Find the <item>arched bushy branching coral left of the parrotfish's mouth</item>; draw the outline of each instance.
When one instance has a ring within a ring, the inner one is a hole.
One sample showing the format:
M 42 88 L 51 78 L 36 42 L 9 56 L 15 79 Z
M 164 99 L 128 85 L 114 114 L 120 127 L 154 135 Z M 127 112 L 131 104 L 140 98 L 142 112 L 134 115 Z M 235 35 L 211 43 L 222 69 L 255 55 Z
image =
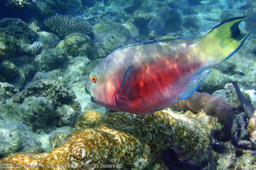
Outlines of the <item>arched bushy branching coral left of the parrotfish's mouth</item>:
M 28 96 L 46 97 L 54 102 L 55 106 L 69 104 L 76 98 L 67 84 L 56 80 L 36 80 L 28 85 L 22 92 L 13 96 L 16 102 L 22 102 Z

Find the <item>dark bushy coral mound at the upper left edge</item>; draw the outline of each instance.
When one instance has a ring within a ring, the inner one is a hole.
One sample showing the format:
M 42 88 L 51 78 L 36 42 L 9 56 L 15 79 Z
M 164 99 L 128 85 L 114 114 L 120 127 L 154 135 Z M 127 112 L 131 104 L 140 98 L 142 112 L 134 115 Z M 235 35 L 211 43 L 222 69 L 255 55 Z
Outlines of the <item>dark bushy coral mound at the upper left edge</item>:
M 37 33 L 18 18 L 4 18 L 0 20 L 0 32 L 13 36 L 16 39 L 23 38 L 30 43 L 38 38 Z

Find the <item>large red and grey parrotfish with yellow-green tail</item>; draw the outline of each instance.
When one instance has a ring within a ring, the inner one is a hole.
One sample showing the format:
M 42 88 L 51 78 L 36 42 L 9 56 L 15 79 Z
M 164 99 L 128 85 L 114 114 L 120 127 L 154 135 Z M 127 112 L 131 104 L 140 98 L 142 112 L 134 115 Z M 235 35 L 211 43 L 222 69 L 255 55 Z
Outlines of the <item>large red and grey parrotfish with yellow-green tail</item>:
M 215 26 L 199 39 L 128 44 L 104 58 L 88 75 L 91 100 L 114 111 L 148 114 L 191 96 L 211 70 L 242 46 L 238 17 Z

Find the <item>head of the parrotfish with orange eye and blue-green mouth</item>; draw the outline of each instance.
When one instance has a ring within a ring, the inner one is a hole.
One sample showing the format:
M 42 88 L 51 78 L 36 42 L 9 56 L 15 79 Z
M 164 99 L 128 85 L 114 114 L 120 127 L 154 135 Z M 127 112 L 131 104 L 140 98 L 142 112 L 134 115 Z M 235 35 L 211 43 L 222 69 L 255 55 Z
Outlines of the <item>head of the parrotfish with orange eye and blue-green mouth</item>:
M 99 63 L 88 75 L 85 91 L 91 101 L 114 111 L 119 111 L 116 104 L 117 82 L 106 62 Z

